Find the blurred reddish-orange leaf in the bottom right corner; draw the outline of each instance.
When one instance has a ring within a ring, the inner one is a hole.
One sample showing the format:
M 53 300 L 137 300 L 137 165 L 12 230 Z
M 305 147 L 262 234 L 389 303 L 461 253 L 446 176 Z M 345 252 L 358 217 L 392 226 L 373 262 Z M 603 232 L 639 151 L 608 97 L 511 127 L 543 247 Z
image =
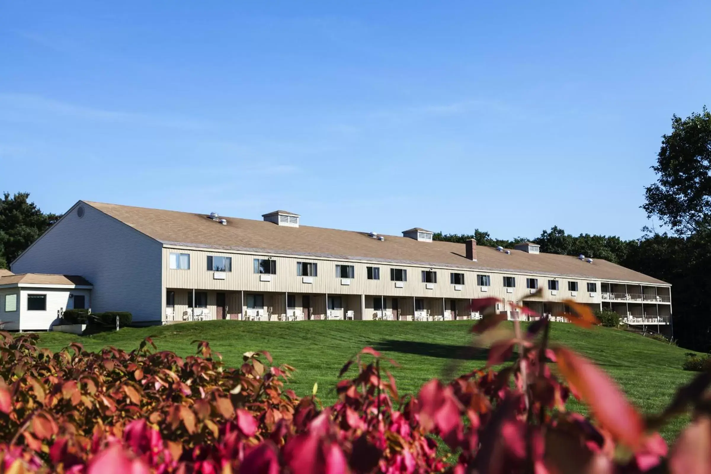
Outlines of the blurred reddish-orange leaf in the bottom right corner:
M 711 473 L 711 418 L 702 416 L 681 432 L 669 458 L 669 472 Z

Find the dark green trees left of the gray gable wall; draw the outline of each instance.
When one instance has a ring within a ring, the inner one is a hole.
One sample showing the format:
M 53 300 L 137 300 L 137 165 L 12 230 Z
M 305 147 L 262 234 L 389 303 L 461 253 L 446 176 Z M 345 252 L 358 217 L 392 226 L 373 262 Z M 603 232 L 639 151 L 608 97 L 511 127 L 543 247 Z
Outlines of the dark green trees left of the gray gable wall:
M 30 193 L 3 193 L 0 200 L 0 268 L 7 268 L 60 217 L 44 214 L 29 197 Z

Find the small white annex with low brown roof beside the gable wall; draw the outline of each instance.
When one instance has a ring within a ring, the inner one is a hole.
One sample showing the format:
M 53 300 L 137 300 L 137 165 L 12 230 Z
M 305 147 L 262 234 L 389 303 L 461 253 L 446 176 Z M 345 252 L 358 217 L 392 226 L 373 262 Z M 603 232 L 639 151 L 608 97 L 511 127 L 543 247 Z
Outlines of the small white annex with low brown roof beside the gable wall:
M 92 284 L 82 276 L 0 273 L 0 329 L 50 330 L 65 309 L 90 308 Z

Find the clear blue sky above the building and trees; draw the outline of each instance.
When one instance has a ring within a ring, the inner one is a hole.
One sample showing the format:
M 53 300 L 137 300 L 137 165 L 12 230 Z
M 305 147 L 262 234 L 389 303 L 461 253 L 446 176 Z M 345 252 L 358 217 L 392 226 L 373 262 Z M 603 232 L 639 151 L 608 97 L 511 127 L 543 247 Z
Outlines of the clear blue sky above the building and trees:
M 109 6 L 110 4 L 110 6 Z M 0 190 L 634 238 L 711 4 L 0 0 Z

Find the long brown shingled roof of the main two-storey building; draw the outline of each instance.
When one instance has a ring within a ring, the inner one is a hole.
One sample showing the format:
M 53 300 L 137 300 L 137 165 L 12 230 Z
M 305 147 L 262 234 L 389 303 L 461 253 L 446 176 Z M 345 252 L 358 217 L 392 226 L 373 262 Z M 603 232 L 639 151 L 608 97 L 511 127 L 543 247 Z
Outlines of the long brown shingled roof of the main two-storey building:
M 478 261 L 472 262 L 465 257 L 465 245 L 454 242 L 417 242 L 396 236 L 385 236 L 381 242 L 368 237 L 367 232 L 304 225 L 282 227 L 237 217 L 227 217 L 228 225 L 220 225 L 205 219 L 203 214 L 85 203 L 164 244 L 665 284 L 602 259 L 594 259 L 590 264 L 565 255 L 528 254 L 520 250 L 506 254 L 478 246 Z

